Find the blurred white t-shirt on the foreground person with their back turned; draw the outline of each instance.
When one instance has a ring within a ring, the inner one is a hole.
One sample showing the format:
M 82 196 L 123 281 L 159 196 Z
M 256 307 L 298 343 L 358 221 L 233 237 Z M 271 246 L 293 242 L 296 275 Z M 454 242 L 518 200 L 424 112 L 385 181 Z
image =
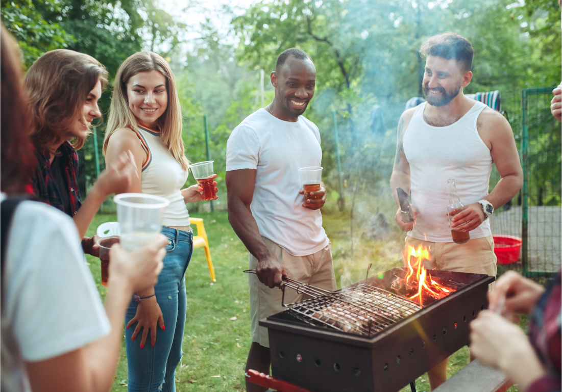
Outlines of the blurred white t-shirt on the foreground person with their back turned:
M 111 326 L 71 218 L 22 202 L 8 233 L 2 282 L 2 390 L 30 391 L 25 362 L 57 357 Z

